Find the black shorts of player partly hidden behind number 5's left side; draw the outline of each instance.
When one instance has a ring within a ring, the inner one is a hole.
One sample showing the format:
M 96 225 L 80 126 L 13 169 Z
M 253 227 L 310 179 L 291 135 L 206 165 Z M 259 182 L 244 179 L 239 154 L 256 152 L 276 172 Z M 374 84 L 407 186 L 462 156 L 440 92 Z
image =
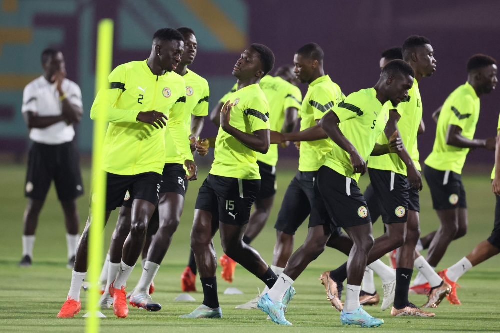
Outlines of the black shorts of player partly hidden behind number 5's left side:
M 288 235 L 295 235 L 300 225 L 311 213 L 314 203 L 314 183 L 316 182 L 318 171 L 297 171 L 295 177 L 291 180 L 284 194 L 281 208 L 279 209 L 278 219 L 274 228 Z M 309 226 L 311 218 L 309 217 Z M 342 230 L 337 230 L 332 237 L 338 237 Z

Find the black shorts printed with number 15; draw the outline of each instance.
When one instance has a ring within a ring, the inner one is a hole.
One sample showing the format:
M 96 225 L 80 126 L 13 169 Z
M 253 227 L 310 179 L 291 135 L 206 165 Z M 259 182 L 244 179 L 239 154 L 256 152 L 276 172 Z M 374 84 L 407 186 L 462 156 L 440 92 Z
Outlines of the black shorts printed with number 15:
M 212 220 L 245 225 L 260 188 L 260 179 L 245 180 L 208 174 L 199 188 L 194 209 L 209 211 Z

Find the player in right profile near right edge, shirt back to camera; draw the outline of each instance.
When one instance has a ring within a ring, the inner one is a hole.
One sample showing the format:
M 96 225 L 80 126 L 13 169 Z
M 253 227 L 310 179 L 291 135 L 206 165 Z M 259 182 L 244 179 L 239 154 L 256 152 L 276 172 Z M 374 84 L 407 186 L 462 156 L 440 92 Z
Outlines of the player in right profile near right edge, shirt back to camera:
M 470 148 L 493 150 L 496 144 L 495 137 L 474 139 L 480 96 L 493 91 L 497 82 L 496 60 L 476 54 L 467 62 L 467 73 L 467 82 L 456 88 L 442 106 L 434 147 L 425 160 L 425 179 L 441 222 L 427 253 L 432 267 L 437 266 L 449 243 L 465 235 L 467 230 L 467 203 L 461 173 Z M 414 282 L 414 288 L 424 288 L 421 282 Z M 448 299 L 459 303 L 454 285 L 452 287 Z

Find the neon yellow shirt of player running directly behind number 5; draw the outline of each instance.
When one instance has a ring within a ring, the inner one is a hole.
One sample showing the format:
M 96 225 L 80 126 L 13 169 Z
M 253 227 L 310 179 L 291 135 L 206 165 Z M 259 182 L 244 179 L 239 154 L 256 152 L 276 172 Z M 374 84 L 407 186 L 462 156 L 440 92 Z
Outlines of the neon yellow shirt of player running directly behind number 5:
M 389 103 L 389 109 L 394 109 Z M 408 91 L 408 97 L 403 99 L 396 107 L 397 113 L 401 116 L 397 122 L 399 135 L 403 141 L 406 150 L 410 157 L 414 156 L 413 149 L 415 148 L 416 135 L 418 127 L 422 120 L 422 99 L 420 97 L 420 89 L 418 82 L 414 80 L 413 86 Z M 392 135 L 392 133 L 390 133 Z M 385 133 L 380 135 L 377 142 L 379 144 L 387 144 L 388 139 Z M 381 156 L 370 157 L 369 167 L 378 170 L 387 170 L 407 175 L 406 164 L 399 158 L 397 154 L 385 154 Z

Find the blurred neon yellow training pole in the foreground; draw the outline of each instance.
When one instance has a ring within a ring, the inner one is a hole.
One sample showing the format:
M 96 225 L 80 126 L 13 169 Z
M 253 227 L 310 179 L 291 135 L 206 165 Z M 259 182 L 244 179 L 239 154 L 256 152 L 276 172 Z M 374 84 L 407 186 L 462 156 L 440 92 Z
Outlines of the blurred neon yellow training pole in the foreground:
M 109 88 L 107 76 L 111 72 L 113 58 L 113 28 L 111 19 L 102 19 L 97 28 L 97 48 L 95 61 L 95 94 L 100 89 Z M 104 236 L 105 198 L 106 198 L 106 173 L 102 170 L 102 144 L 106 135 L 106 118 L 104 112 L 99 110 L 93 127 L 92 147 L 92 196 L 91 196 L 91 224 L 88 239 L 88 281 L 90 292 L 87 300 L 87 310 L 90 316 L 86 321 L 86 331 L 97 333 L 99 331 L 99 291 L 97 282 L 102 268 L 102 250 Z

